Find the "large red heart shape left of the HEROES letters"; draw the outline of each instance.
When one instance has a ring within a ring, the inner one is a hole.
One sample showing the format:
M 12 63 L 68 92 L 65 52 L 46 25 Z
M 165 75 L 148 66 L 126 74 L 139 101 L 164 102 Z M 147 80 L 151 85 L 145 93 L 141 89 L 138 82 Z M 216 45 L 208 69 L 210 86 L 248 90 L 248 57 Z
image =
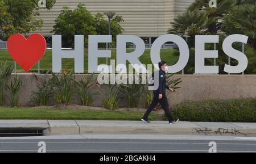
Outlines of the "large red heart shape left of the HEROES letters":
M 9 37 L 7 49 L 11 58 L 28 72 L 44 56 L 46 39 L 39 33 L 34 33 L 27 39 L 16 33 Z

